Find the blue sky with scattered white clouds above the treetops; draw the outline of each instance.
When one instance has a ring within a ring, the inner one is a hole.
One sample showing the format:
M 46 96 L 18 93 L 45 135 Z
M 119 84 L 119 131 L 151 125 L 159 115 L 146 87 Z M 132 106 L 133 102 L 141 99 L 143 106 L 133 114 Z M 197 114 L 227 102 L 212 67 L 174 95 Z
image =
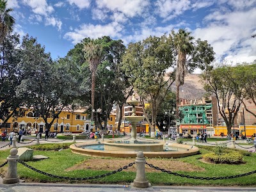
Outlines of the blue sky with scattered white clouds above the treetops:
M 184 28 L 207 40 L 216 63 L 256 60 L 256 0 L 8 0 L 15 32 L 37 38 L 53 59 L 83 38 L 125 45 Z

